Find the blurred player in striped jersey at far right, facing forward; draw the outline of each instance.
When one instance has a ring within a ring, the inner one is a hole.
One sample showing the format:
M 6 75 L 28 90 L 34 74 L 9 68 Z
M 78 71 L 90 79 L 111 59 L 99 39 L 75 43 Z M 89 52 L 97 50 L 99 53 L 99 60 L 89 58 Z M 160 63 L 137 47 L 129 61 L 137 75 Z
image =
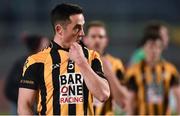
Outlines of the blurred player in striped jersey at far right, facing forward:
M 146 33 L 143 40 L 145 58 L 126 72 L 125 82 L 131 92 L 131 114 L 170 114 L 169 95 L 174 92 L 180 113 L 179 73 L 174 65 L 161 58 L 165 47 L 156 32 Z

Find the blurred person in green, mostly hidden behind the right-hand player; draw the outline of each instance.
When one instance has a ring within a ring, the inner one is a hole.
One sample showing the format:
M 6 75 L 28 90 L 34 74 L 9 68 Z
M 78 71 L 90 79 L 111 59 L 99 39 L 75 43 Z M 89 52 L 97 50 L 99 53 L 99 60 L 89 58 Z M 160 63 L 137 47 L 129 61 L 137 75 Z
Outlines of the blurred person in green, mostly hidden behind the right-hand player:
M 166 49 L 168 47 L 169 33 L 168 33 L 168 28 L 165 25 L 158 22 L 153 22 L 147 25 L 147 27 L 144 30 L 144 35 L 148 35 L 151 33 L 159 34 L 163 42 L 163 48 Z M 139 63 L 145 59 L 144 49 L 146 48 L 144 48 L 143 45 L 144 45 L 144 39 L 141 40 L 140 44 L 138 45 L 139 48 L 133 53 L 130 59 L 130 65 Z

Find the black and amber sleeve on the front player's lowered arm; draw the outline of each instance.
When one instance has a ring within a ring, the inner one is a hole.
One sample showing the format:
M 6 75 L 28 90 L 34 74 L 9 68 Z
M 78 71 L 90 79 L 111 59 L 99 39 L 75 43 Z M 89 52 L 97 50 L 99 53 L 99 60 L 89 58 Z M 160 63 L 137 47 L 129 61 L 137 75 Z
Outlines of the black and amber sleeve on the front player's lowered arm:
M 28 57 L 23 67 L 23 74 L 20 79 L 19 88 L 37 90 L 41 76 L 42 63 L 37 63 L 33 58 Z

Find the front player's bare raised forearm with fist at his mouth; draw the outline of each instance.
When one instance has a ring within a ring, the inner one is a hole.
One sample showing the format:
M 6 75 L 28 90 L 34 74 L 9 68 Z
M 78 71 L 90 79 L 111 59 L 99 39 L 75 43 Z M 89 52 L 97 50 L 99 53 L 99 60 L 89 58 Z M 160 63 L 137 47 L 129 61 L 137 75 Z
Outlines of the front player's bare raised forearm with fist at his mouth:
M 69 55 L 72 60 L 76 62 L 80 71 L 84 77 L 84 81 L 87 85 L 89 91 L 99 100 L 106 101 L 110 96 L 109 84 L 106 79 L 102 78 L 102 72 L 93 71 L 91 66 L 88 64 L 87 59 L 84 57 L 82 48 L 77 43 L 74 43 L 70 50 Z M 99 60 L 96 60 L 97 67 L 101 68 L 99 65 Z M 93 62 L 92 62 L 93 63 Z M 98 74 L 99 73 L 99 74 Z

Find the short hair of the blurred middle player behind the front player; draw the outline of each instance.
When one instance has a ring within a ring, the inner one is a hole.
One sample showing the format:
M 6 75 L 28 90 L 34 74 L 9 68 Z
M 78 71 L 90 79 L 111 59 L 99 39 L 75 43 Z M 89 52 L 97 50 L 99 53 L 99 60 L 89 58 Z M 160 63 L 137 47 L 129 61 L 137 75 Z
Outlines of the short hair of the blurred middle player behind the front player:
M 89 31 L 89 29 L 90 29 L 91 27 L 102 27 L 102 28 L 104 28 L 104 29 L 106 30 L 106 25 L 105 25 L 105 23 L 102 22 L 102 21 L 98 21 L 98 20 L 96 20 L 96 21 L 91 21 L 91 22 L 88 23 L 88 25 L 87 25 L 87 27 L 86 27 L 86 32 L 87 32 L 87 33 L 88 33 L 88 31 Z

